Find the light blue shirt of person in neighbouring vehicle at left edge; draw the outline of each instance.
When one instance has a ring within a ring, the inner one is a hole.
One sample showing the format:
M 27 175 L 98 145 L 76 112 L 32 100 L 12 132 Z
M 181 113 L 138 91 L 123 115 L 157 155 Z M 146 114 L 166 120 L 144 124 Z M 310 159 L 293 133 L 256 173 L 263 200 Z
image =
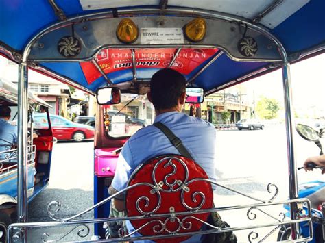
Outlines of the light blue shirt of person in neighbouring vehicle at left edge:
M 17 143 L 17 126 L 11 125 L 7 120 L 0 118 L 0 152 L 10 149 L 12 144 Z M 0 159 L 4 155 L 0 154 Z

